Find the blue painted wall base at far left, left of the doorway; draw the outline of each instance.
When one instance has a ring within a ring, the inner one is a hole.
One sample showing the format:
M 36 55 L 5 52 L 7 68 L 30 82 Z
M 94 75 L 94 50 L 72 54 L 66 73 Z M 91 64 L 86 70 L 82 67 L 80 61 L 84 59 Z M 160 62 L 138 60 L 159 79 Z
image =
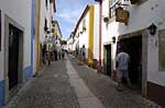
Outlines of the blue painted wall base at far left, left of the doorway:
M 0 108 L 4 104 L 4 81 L 0 81 Z

